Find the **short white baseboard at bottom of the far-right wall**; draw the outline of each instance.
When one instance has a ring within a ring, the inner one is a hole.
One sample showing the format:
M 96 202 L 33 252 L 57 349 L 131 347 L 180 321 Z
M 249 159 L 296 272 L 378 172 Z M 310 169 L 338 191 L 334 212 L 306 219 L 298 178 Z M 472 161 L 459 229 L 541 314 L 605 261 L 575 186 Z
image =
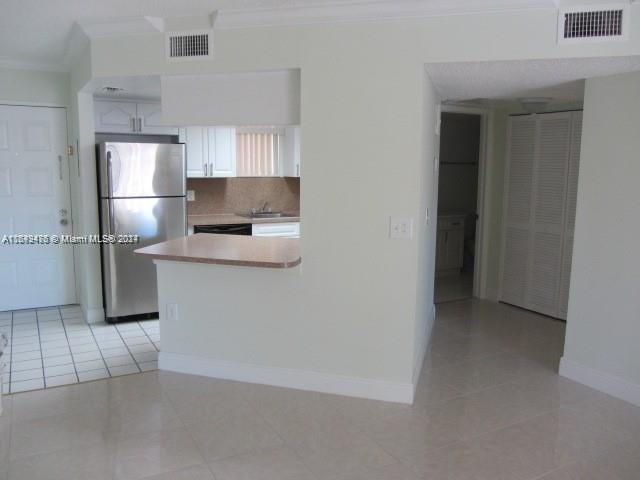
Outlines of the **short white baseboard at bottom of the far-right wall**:
M 594 370 L 565 357 L 560 359 L 560 375 L 640 406 L 640 385 L 623 378 Z

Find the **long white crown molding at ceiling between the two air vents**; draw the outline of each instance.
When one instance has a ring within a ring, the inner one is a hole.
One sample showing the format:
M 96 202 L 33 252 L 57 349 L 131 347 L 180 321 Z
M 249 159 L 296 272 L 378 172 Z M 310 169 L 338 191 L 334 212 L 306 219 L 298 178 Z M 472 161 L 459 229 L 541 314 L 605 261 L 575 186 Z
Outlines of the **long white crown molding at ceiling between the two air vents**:
M 557 0 L 352 0 L 286 7 L 220 10 L 216 28 L 380 21 L 557 8 Z

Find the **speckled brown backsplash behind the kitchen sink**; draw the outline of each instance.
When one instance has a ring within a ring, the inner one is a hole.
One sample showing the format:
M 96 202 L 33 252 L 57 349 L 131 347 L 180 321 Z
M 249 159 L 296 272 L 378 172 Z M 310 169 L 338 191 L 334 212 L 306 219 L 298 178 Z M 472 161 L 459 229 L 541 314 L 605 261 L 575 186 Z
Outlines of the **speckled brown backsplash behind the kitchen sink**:
M 299 178 L 188 178 L 187 189 L 196 194 L 189 215 L 245 213 L 264 202 L 274 211 L 300 211 Z

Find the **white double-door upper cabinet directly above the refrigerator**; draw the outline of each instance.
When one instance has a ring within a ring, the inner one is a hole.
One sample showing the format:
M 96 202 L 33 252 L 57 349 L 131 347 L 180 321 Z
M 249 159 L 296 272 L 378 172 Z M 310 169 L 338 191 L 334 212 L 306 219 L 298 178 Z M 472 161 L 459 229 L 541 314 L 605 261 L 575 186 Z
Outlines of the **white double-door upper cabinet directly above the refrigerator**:
M 93 108 L 96 132 L 178 134 L 177 128 L 162 124 L 162 109 L 159 103 L 95 100 Z

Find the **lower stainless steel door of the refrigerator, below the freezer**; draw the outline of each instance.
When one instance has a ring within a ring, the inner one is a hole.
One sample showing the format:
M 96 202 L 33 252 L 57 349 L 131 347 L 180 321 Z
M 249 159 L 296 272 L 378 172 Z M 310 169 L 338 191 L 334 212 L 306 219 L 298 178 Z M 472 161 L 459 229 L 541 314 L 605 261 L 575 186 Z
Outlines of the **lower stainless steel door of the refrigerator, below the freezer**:
M 186 233 L 185 198 L 116 198 L 101 200 L 101 230 L 110 235 L 139 235 L 137 244 L 103 244 L 105 315 L 117 317 L 158 311 L 153 261 L 133 253 Z

